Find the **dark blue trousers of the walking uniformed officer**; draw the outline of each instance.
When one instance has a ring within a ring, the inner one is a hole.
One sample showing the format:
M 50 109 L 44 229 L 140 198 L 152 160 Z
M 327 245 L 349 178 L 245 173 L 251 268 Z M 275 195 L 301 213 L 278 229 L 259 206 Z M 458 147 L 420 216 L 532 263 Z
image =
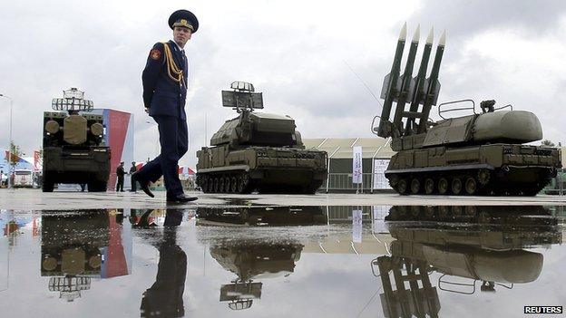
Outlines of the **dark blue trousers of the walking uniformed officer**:
M 183 193 L 178 163 L 188 150 L 187 121 L 173 116 L 153 116 L 153 120 L 160 131 L 161 154 L 146 163 L 138 176 L 151 182 L 163 176 L 167 196 L 175 197 Z

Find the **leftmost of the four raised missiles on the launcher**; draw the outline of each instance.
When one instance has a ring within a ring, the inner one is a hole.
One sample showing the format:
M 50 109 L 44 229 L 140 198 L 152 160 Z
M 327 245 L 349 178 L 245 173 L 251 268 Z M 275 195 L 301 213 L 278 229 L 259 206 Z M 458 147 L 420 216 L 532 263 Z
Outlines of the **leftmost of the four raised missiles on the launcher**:
M 392 124 L 389 121 L 391 115 L 391 106 L 395 99 L 397 82 L 399 79 L 399 70 L 401 69 L 401 58 L 403 57 L 403 49 L 405 47 L 406 38 L 406 23 L 401 28 L 399 40 L 397 40 L 397 48 L 395 49 L 395 57 L 393 59 L 393 66 L 384 79 L 384 84 L 381 89 L 381 98 L 385 100 L 383 110 L 381 111 L 381 118 L 379 119 L 379 127 L 377 128 L 377 135 L 379 137 L 387 138 L 391 136 Z

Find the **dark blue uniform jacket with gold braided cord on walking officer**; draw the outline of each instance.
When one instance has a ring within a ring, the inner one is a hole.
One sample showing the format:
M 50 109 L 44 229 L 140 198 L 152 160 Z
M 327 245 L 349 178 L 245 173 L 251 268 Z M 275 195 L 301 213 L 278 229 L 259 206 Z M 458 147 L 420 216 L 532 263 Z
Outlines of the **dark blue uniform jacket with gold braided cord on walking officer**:
M 168 61 L 166 44 L 174 64 Z M 179 77 L 174 72 L 171 73 L 171 68 L 182 71 L 181 81 L 173 79 Z M 188 78 L 189 63 L 179 46 L 171 40 L 167 43 L 155 43 L 142 72 L 143 104 L 149 109 L 150 116 L 173 116 L 186 120 Z

